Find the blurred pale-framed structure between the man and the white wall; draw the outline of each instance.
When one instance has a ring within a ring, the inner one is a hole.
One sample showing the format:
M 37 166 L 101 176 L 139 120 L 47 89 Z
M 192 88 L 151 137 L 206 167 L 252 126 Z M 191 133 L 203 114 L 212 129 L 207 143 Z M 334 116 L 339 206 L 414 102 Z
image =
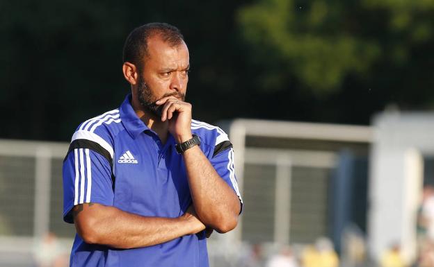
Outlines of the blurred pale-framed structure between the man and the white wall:
M 234 239 L 313 243 L 330 236 L 339 247 L 347 221 L 365 230 L 371 128 L 247 119 L 224 128 L 246 203 Z

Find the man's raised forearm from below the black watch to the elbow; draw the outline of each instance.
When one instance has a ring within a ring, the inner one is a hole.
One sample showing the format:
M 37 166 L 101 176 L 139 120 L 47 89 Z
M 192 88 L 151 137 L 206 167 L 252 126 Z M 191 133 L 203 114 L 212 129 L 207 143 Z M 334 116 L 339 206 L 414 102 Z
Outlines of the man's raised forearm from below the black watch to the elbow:
M 218 232 L 232 230 L 241 205 L 234 190 L 222 179 L 199 146 L 183 154 L 188 184 L 200 221 Z

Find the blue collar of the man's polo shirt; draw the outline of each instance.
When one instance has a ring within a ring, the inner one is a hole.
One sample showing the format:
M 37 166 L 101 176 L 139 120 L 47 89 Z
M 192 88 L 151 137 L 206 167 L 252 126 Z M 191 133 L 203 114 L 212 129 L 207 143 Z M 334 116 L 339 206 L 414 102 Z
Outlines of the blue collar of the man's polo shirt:
M 131 94 L 128 94 L 125 97 L 124 102 L 122 102 L 122 105 L 120 105 L 119 113 L 120 119 L 122 120 L 122 123 L 124 123 L 127 132 L 134 139 L 136 139 L 140 132 L 150 130 L 150 128 L 148 128 L 146 124 L 140 120 L 136 112 L 134 112 L 133 106 L 131 105 Z

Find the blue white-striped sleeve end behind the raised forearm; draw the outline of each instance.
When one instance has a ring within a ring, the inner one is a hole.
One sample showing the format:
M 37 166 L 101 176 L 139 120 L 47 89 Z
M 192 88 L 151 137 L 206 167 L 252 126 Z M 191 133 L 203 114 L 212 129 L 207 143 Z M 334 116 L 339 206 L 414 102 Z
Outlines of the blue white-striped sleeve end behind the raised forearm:
M 226 148 L 223 148 L 222 146 L 216 146 L 215 151 L 218 151 L 218 153 L 214 153 L 213 157 L 210 160 L 211 164 L 214 166 L 214 169 L 216 169 L 218 175 L 220 175 L 220 177 L 223 178 L 223 180 L 225 180 L 225 182 L 229 184 L 232 189 L 234 189 L 236 196 L 238 196 L 240 200 L 242 210 L 243 199 L 241 198 L 238 183 L 236 182 L 235 177 L 234 148 L 232 148 L 232 145 L 226 146 Z

